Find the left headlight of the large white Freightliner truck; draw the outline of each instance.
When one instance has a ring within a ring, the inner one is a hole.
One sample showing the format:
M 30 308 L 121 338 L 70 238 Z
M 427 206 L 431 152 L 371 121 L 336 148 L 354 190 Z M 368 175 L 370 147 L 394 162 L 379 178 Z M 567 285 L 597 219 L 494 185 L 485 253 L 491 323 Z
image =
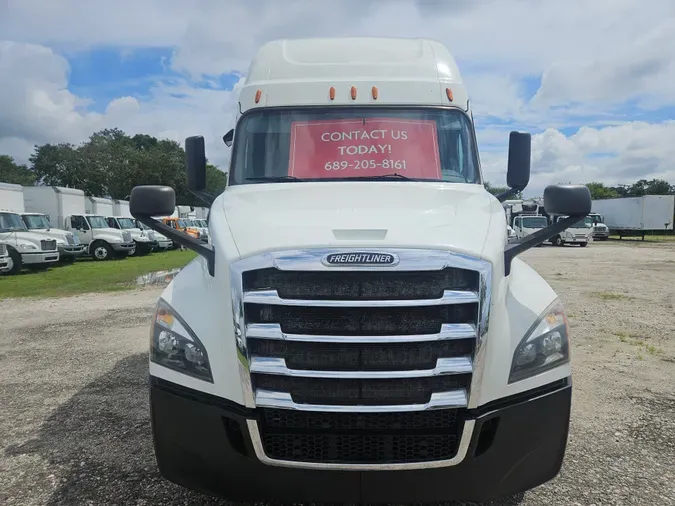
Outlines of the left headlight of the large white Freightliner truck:
M 204 345 L 187 323 L 164 301 L 157 303 L 152 325 L 150 360 L 174 371 L 213 383 Z

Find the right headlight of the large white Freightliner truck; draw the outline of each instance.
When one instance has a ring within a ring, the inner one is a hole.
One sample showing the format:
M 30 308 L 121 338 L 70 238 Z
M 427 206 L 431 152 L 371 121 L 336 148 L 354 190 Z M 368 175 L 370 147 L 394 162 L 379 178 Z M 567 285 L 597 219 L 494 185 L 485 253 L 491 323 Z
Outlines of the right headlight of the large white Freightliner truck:
M 530 327 L 513 354 L 509 383 L 558 367 L 570 359 L 569 325 L 556 300 Z

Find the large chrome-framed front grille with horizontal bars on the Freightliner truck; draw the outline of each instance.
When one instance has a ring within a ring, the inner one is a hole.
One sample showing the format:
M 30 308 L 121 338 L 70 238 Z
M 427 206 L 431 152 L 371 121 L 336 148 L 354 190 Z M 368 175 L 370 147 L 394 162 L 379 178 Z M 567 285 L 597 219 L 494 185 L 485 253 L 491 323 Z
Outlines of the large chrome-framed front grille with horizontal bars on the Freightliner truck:
M 376 469 L 461 460 L 460 442 L 468 444 L 473 427 L 463 412 L 487 329 L 490 266 L 448 252 L 395 251 L 395 268 L 324 265 L 322 256 L 340 252 L 333 250 L 233 264 L 247 405 L 277 414 L 276 423 L 267 415 L 249 422 L 261 460 Z M 453 423 L 439 431 L 429 416 L 410 433 L 395 425 L 357 430 L 371 414 L 428 413 Z M 310 426 L 318 418 L 325 423 Z M 337 435 L 335 423 L 353 432 Z M 394 451 L 399 444 L 407 449 Z

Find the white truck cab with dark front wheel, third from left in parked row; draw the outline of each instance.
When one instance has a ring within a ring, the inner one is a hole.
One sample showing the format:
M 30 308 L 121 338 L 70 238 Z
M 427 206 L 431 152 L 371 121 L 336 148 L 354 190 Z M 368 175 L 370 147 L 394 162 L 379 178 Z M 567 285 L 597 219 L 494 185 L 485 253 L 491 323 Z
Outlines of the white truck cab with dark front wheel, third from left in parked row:
M 65 218 L 66 230 L 73 232 L 94 260 L 126 258 L 136 248 L 131 233 L 116 230 L 105 217 L 96 214 L 73 214 Z

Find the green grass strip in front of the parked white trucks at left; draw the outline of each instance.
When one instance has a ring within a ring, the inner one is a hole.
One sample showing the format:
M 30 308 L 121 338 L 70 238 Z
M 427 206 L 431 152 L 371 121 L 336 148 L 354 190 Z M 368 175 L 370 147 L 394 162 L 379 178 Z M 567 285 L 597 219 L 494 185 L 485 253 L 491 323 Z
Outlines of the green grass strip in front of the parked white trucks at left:
M 81 258 L 72 265 L 56 265 L 46 271 L 0 275 L 0 300 L 128 290 L 138 286 L 138 276 L 183 267 L 195 256 L 192 251 L 176 250 L 103 262 Z

